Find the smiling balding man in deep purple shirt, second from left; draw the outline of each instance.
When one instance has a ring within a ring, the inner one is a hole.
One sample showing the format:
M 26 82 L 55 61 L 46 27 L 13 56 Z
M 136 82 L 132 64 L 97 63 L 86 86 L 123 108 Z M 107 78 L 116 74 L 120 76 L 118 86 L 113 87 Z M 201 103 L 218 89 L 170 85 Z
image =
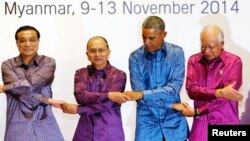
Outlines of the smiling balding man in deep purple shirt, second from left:
M 126 74 L 109 63 L 105 38 L 90 38 L 86 54 L 91 65 L 75 73 L 74 95 L 79 105 L 62 106 L 65 113 L 80 114 L 73 141 L 124 141 L 120 104 L 130 100 L 122 93 Z

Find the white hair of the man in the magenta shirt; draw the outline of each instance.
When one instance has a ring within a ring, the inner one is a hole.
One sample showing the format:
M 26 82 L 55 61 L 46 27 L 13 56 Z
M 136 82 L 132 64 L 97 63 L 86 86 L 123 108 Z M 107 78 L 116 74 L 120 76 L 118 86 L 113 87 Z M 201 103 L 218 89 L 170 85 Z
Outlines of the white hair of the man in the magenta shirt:
M 224 41 L 224 33 L 220 29 L 220 27 L 218 27 L 216 25 L 207 25 L 207 26 L 205 26 L 201 31 L 200 39 L 202 40 L 202 38 L 205 35 L 217 35 L 218 41 L 220 41 L 220 42 Z

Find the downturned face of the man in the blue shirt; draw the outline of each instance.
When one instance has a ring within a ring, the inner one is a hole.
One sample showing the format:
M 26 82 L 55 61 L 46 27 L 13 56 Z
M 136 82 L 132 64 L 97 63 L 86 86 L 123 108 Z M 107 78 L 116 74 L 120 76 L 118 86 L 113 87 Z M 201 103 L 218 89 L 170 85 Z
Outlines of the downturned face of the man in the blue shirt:
M 167 32 L 158 31 L 156 29 L 142 29 L 142 39 L 148 52 L 154 52 L 162 47 Z

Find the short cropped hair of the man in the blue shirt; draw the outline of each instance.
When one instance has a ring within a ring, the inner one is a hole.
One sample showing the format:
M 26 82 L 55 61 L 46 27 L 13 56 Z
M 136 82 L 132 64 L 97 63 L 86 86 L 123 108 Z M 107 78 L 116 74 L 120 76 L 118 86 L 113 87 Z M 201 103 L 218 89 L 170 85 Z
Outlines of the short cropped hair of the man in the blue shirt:
M 145 28 L 145 29 L 156 29 L 158 31 L 164 32 L 165 31 L 165 23 L 158 16 L 149 16 L 143 22 L 142 28 Z

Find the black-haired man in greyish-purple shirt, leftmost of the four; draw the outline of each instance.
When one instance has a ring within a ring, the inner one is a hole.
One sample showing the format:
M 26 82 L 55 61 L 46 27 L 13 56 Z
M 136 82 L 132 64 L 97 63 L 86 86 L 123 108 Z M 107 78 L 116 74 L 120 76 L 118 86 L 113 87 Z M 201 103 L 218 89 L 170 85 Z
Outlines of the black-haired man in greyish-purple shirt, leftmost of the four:
M 15 34 L 19 56 L 2 63 L 7 97 L 5 141 L 64 141 L 51 106 L 65 103 L 52 99 L 55 60 L 38 55 L 40 33 L 22 26 Z

